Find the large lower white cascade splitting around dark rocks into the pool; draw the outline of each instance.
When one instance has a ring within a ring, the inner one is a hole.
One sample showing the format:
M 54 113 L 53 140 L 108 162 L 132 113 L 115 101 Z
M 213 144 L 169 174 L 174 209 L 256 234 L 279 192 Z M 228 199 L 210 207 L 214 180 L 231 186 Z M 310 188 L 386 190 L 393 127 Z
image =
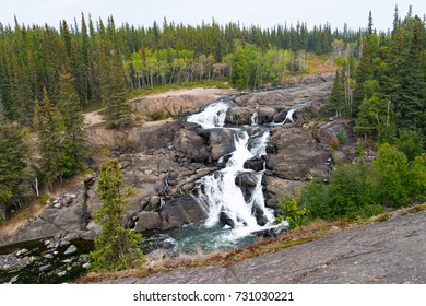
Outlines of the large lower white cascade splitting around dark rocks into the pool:
M 274 221 L 272 211 L 264 205 L 261 185 L 262 174 L 244 168 L 244 163 L 247 160 L 265 154 L 269 137 L 269 131 L 263 131 L 261 136 L 251 139 L 252 145 L 248 150 L 249 136 L 246 131 L 239 131 L 235 136 L 236 150 L 232 153 L 226 167 L 198 181 L 197 198 L 209 207 L 209 217 L 205 226 L 211 227 L 220 223 L 221 213 L 225 213 L 234 225 L 233 229 L 224 232 L 215 238 L 214 244 L 216 245 L 235 242 L 256 231 L 265 228 L 258 224 L 255 215 L 256 209 L 263 212 L 269 222 Z M 235 183 L 237 175 L 241 173 L 251 173 L 257 180 L 256 187 L 247 201 L 240 187 Z

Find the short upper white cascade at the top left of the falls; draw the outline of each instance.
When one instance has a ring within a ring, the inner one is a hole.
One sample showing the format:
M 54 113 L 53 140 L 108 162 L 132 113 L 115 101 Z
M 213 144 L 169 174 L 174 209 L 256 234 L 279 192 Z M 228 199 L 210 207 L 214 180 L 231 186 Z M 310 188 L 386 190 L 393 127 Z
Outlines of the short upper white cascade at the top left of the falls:
M 226 111 L 234 105 L 232 102 L 215 102 L 203 111 L 189 116 L 187 121 L 198 123 L 203 129 L 222 128 L 225 125 Z

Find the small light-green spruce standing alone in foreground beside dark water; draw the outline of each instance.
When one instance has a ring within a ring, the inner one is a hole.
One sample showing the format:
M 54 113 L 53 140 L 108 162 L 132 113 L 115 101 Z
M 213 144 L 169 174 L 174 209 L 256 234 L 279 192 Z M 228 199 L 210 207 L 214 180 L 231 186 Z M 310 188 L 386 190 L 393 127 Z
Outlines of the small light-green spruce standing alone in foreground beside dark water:
M 142 237 L 121 226 L 126 210 L 125 199 L 131 192 L 122 180 L 117 160 L 107 160 L 99 166 L 97 196 L 103 205 L 95 212 L 95 222 L 102 233 L 95 238 L 91 252 L 93 268 L 102 270 L 126 269 L 141 261 L 138 250 Z

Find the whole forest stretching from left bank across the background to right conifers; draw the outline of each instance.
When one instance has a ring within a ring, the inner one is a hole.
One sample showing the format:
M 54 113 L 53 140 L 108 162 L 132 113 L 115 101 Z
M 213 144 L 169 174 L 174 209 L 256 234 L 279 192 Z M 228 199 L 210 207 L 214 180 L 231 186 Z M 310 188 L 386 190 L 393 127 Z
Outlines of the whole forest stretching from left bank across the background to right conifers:
M 354 119 L 362 138 L 400 141 L 407 162 L 423 152 L 426 25 L 411 10 L 403 17 L 395 10 L 388 32 L 375 30 L 371 14 L 356 31 L 214 20 L 135 27 L 84 14 L 51 27 L 15 19 L 0 24 L 0 219 L 40 186 L 54 189 L 84 168 L 83 111 L 105 107 L 107 126 L 122 129 L 132 123 L 130 91 L 212 80 L 238 89 L 280 84 L 308 72 L 309 56 L 328 56 L 338 68 L 324 114 Z M 38 157 L 29 152 L 34 132 Z

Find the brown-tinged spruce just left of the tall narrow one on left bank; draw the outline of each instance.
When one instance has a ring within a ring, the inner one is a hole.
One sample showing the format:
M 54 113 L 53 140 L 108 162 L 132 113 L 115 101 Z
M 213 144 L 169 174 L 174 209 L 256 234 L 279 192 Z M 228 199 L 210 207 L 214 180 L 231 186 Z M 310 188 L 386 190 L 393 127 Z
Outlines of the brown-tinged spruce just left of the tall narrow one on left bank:
M 42 154 L 42 173 L 54 190 L 57 179 L 72 174 L 73 161 L 70 154 L 70 141 L 64 137 L 66 127 L 58 109 L 51 104 L 46 87 L 43 101 L 35 101 L 36 130 Z

